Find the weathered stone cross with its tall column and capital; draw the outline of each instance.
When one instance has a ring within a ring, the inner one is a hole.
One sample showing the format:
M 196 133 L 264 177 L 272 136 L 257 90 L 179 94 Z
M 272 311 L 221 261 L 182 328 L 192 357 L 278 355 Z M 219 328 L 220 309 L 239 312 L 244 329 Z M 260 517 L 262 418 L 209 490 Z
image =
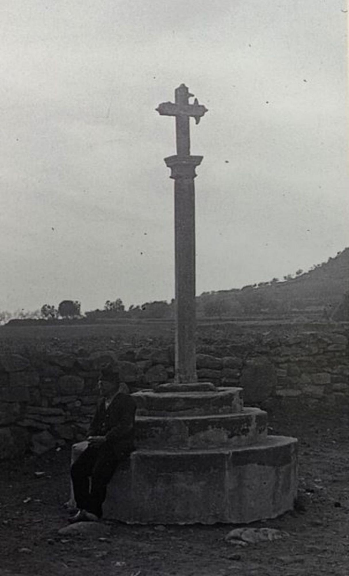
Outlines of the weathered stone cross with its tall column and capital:
M 159 104 L 162 116 L 175 116 L 177 155 L 165 158 L 174 179 L 175 199 L 175 382 L 197 382 L 195 354 L 195 168 L 202 156 L 190 156 L 190 116 L 198 124 L 207 108 L 184 84 L 175 101 Z

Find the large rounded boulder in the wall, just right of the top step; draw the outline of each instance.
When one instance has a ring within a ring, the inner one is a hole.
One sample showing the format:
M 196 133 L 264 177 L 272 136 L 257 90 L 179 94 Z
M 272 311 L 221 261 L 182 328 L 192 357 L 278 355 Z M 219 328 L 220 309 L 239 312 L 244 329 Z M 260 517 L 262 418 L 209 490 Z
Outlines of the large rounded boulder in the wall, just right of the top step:
M 277 375 L 274 365 L 266 358 L 247 361 L 240 378 L 244 390 L 245 404 L 255 404 L 266 400 L 275 391 Z

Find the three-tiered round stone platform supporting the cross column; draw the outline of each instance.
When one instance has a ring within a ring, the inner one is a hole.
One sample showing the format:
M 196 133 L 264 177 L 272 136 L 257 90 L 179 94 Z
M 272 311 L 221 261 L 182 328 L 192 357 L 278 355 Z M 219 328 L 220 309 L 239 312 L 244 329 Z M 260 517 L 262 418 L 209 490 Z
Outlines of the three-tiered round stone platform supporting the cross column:
M 137 449 L 109 484 L 104 516 L 246 524 L 292 509 L 297 439 L 268 436 L 267 413 L 244 407 L 242 392 L 205 382 L 133 394 Z

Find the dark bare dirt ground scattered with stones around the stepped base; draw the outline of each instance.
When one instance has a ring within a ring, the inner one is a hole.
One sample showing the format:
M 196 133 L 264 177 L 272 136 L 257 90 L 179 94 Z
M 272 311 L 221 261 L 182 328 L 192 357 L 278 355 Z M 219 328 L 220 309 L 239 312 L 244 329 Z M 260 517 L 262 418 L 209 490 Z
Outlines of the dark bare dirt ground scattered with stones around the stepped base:
M 106 522 L 104 537 L 58 534 L 67 524 L 69 450 L 0 472 L 0 575 L 291 576 L 349 574 L 349 427 L 347 413 L 270 415 L 273 434 L 299 439 L 297 509 L 255 523 L 289 533 L 236 548 L 231 525 L 128 526 Z M 37 476 L 36 472 L 44 472 Z

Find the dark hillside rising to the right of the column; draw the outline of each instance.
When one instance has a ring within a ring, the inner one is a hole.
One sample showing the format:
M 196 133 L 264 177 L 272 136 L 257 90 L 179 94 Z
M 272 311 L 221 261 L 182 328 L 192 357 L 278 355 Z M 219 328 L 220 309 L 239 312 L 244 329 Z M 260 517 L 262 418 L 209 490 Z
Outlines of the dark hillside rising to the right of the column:
M 241 290 L 224 290 L 198 297 L 198 310 L 210 315 L 216 307 L 218 315 L 292 313 L 313 310 L 328 314 L 342 301 L 349 290 L 349 248 L 329 258 L 296 278 L 279 282 L 245 286 Z M 215 315 L 215 314 L 212 314 Z

